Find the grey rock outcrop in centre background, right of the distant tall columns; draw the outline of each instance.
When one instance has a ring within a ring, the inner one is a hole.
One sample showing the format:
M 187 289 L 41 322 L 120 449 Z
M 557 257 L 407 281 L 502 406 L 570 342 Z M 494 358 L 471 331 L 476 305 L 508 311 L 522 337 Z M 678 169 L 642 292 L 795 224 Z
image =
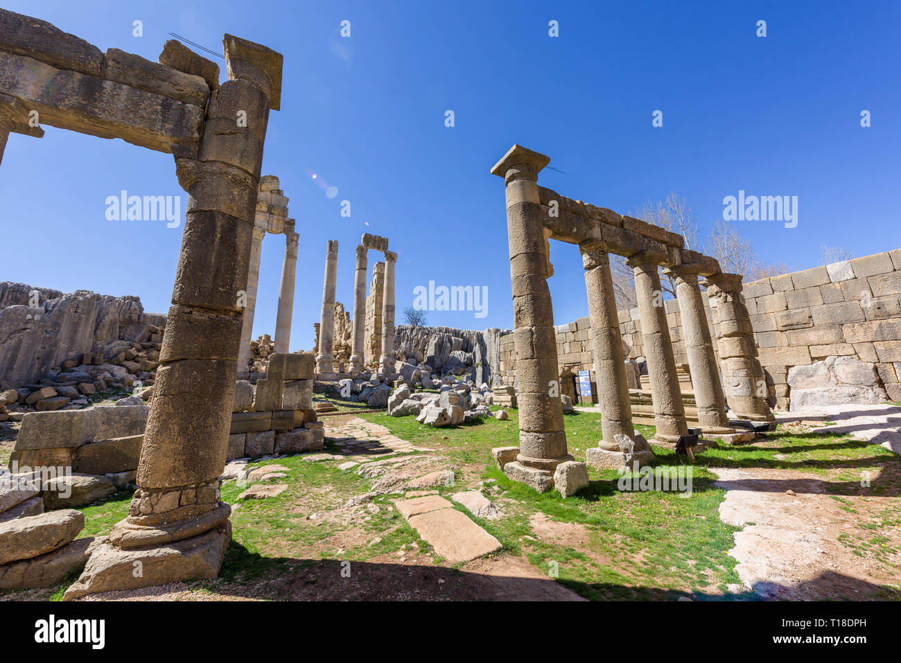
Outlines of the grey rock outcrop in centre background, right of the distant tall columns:
M 477 385 L 499 384 L 499 340 L 508 333 L 401 324 L 395 332 L 395 356 L 411 364 L 424 362 L 441 375 L 469 375 Z

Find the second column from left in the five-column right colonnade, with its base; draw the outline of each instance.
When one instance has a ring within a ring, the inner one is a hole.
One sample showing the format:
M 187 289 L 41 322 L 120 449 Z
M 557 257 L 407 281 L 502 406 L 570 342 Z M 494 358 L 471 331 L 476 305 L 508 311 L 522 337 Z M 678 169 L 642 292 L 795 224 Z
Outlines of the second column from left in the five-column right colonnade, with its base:
M 629 385 L 625 377 L 623 338 L 619 332 L 619 316 L 616 313 L 613 275 L 610 272 L 610 255 L 603 243 L 587 241 L 578 245 L 585 268 L 585 288 L 588 295 L 588 318 L 591 322 L 591 347 L 595 359 L 597 398 L 601 410 L 603 439 L 597 449 L 587 449 L 588 465 L 616 467 L 628 465 L 625 459 L 598 453 L 600 450 L 622 453 L 617 436 L 635 440 L 632 423 L 632 404 L 629 402 Z M 630 446 L 626 442 L 626 446 Z M 634 447 L 634 445 L 631 445 Z M 653 456 L 651 455 L 651 458 Z

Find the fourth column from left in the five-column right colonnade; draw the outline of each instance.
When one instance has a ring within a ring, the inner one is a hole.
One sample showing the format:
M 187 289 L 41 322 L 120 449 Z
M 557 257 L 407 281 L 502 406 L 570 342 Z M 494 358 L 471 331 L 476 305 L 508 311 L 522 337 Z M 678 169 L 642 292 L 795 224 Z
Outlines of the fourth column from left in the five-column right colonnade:
M 682 335 L 701 431 L 711 436 L 732 434 L 735 429 L 729 426 L 729 417 L 726 416 L 714 341 L 710 337 L 704 299 L 697 282 L 698 268 L 696 265 L 680 265 L 669 268 L 667 273 L 676 281 Z

